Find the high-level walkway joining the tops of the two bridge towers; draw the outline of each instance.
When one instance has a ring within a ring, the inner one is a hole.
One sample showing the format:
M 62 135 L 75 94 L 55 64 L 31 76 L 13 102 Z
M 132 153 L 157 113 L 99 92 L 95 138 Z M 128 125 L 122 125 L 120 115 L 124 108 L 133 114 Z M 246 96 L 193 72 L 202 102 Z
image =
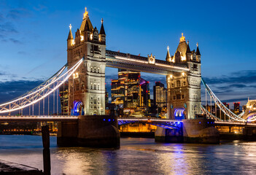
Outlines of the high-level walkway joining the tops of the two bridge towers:
M 173 71 L 189 71 L 187 66 L 184 64 L 171 63 L 158 59 L 155 59 L 155 63 L 149 63 L 147 57 L 115 52 L 111 50 L 106 50 L 106 66 L 162 75 L 171 74 Z

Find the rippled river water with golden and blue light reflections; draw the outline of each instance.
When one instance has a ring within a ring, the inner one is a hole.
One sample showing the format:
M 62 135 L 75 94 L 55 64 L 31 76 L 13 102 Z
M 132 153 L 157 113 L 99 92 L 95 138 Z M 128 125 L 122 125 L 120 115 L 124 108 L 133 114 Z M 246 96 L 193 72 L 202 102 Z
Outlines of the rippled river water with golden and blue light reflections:
M 50 143 L 52 174 L 256 174 L 256 142 L 162 144 L 123 138 L 120 149 L 91 149 L 57 147 L 53 136 Z M 42 137 L 1 135 L 0 159 L 43 169 Z

